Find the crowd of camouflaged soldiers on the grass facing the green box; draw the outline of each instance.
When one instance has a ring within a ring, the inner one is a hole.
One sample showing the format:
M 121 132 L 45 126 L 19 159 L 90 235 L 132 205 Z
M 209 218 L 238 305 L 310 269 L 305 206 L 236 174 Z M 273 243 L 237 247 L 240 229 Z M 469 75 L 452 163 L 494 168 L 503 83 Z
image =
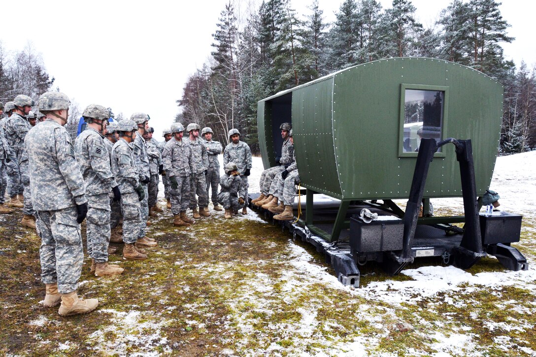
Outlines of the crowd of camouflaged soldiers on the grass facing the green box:
M 240 209 L 247 214 L 251 151 L 236 129 L 228 133 L 226 175 L 220 178 L 222 146 L 212 140 L 210 128 L 204 128 L 199 138 L 199 125 L 189 124 L 188 138 L 183 139 L 183 125 L 174 123 L 163 132 L 166 143 L 161 144 L 152 139 L 154 130 L 148 127 L 147 114 L 138 112 L 130 119 L 110 123 L 106 107 L 90 105 L 82 114 L 87 129 L 73 145 L 64 128 L 69 117 L 68 96 L 42 94 L 37 116 L 42 123 L 35 127 L 28 120 L 34 101 L 17 95 L 12 103 L 14 108 L 6 104 L 8 117 L 0 129 L 0 163 L 6 171 L 12 162 L 17 163 L 25 189 L 12 180 L 10 204 L 23 205 L 23 224 L 32 223 L 26 225 L 41 237 L 41 279 L 46 285 L 43 304 L 61 304 L 58 313 L 62 316 L 88 313 L 98 306 L 98 300 L 82 300 L 77 295 L 84 259 L 80 230 L 84 219 L 87 254 L 95 276 L 123 272 L 120 266 L 108 264 L 108 254 L 113 251 L 110 238 L 124 243 L 123 258 L 129 260 L 146 259 L 144 249 L 158 245 L 146 235 L 146 228 L 149 215 L 162 211 L 157 204 L 159 175 L 175 226 L 195 223 L 187 216 L 188 209 L 194 219 L 210 216 L 209 189 L 214 210 L 222 211 L 221 204 L 225 218 Z M 4 199 L 6 183 L 1 182 Z M 19 192 L 24 192 L 24 198 Z M 19 198 L 24 204 L 17 204 Z M 2 213 L 11 213 L 0 203 Z

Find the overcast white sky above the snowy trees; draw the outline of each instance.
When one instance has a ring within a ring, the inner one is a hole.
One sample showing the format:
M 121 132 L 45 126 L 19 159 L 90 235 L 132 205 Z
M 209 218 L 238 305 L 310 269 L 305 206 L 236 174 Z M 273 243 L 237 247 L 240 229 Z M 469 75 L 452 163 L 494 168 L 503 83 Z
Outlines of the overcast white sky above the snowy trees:
M 207 61 L 212 33 L 228 0 L 197 1 L 26 1 L 2 4 L 0 41 L 7 50 L 22 50 L 28 41 L 56 78 L 54 87 L 79 103 L 111 107 L 130 116 L 144 111 L 157 131 L 168 127 L 179 111 L 188 77 Z M 257 1 L 259 3 L 260 1 Z M 298 13 L 308 13 L 311 0 L 292 0 Z M 326 20 L 342 0 L 319 0 Z M 413 0 L 419 21 L 430 26 L 449 0 Z M 383 8 L 390 0 L 381 0 Z M 248 0 L 240 0 L 245 10 Z M 256 8 L 256 6 L 255 6 Z M 241 10 L 242 10 L 241 9 Z M 501 13 L 516 40 L 504 44 L 517 65 L 536 65 L 533 15 L 536 3 L 504 0 Z M 24 20 L 28 16 L 28 20 Z M 187 123 L 183 123 L 187 124 Z

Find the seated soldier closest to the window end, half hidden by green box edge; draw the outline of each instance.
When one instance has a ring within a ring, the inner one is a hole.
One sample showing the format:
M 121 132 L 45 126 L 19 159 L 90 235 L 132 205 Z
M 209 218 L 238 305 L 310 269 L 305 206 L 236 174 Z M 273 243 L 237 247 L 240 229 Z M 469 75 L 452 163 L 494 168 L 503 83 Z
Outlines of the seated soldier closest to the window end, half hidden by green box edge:
M 289 132 L 291 144 L 294 145 L 294 139 L 292 137 L 292 130 Z M 294 155 L 294 151 L 292 152 L 293 160 L 294 162 L 291 163 L 286 169 L 284 169 L 281 174 L 279 175 L 282 180 L 284 180 L 284 183 L 281 187 L 276 189 L 276 193 L 274 193 L 274 196 L 277 195 L 280 200 L 282 200 L 284 204 L 284 209 L 281 212 L 278 211 L 272 211 L 274 207 L 270 208 L 269 210 L 272 213 L 279 213 L 273 216 L 273 219 L 281 220 L 281 221 L 289 221 L 294 219 L 294 213 L 292 212 L 292 205 L 294 204 L 294 197 L 296 197 L 296 184 L 300 183 L 300 175 L 298 173 L 298 167 L 296 163 L 296 156 Z M 279 207 L 276 207 L 276 209 Z

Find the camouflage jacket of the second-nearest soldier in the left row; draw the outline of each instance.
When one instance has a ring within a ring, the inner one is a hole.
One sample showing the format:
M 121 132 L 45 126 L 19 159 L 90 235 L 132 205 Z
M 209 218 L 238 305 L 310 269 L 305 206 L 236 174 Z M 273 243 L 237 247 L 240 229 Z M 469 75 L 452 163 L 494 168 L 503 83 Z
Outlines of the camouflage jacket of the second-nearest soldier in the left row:
M 76 159 L 86 182 L 86 195 L 109 194 L 117 186 L 111 173 L 106 139 L 93 128 L 87 128 L 75 140 Z

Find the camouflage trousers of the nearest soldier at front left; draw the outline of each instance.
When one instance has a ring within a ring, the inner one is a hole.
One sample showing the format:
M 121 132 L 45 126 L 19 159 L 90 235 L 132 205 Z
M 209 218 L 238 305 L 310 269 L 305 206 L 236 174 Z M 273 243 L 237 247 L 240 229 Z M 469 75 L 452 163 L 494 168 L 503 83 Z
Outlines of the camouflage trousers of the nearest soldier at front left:
M 58 283 L 58 292 L 76 291 L 84 260 L 76 207 L 57 211 L 38 211 L 36 221 L 41 248 L 41 281 Z

